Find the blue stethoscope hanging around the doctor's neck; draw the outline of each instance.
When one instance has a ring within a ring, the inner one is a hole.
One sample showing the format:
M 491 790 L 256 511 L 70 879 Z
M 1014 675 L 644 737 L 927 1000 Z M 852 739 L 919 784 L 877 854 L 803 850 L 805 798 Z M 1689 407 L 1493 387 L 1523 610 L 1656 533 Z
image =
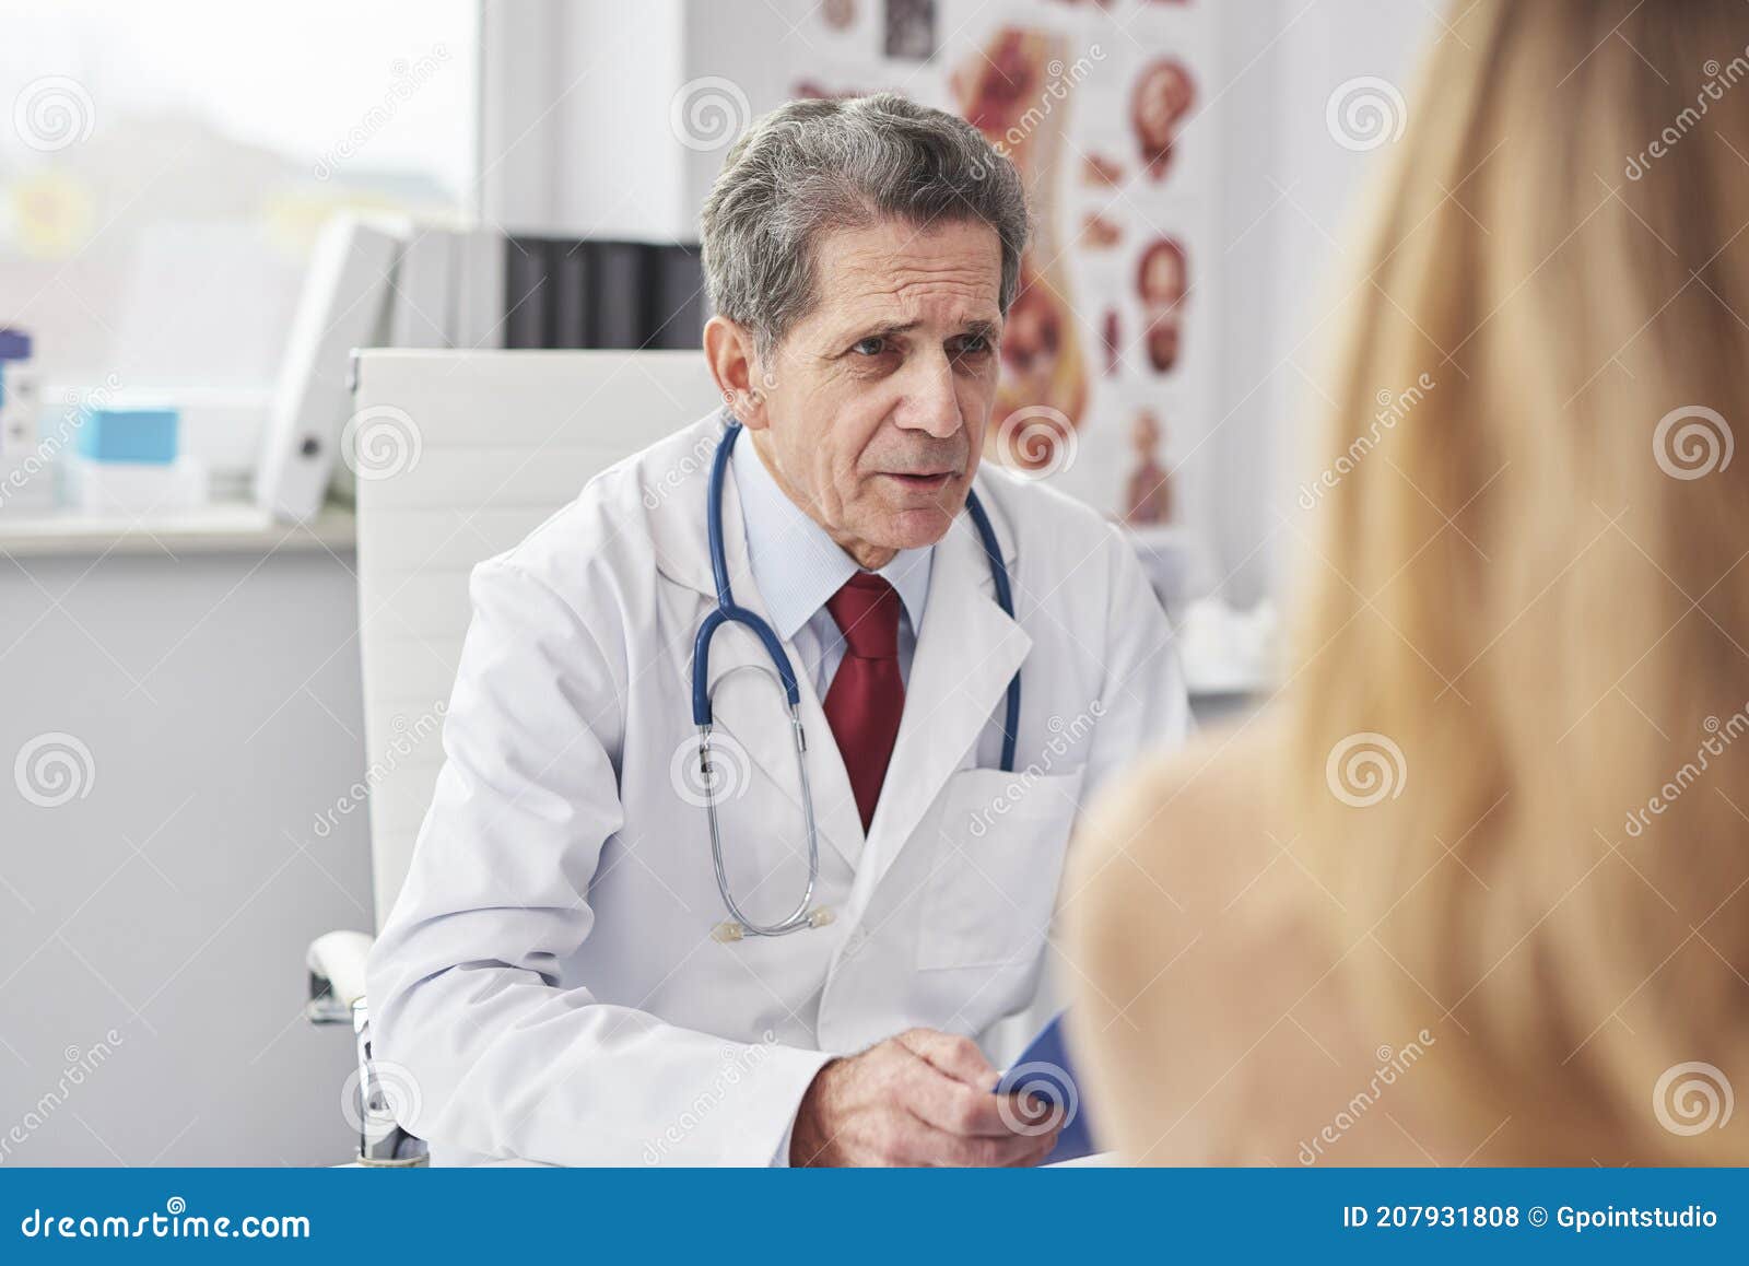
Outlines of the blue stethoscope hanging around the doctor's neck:
M 729 453 L 735 451 L 735 441 L 740 439 L 742 423 L 729 420 L 728 428 L 722 432 L 722 439 L 717 442 L 717 456 L 710 467 L 710 493 L 707 500 L 708 509 L 708 533 L 710 533 L 710 572 L 717 582 L 717 609 L 705 616 L 705 623 L 698 626 L 698 635 L 693 640 L 693 724 L 698 726 L 698 761 L 701 782 L 705 787 L 705 811 L 710 818 L 710 860 L 717 867 L 717 892 L 722 894 L 722 904 L 729 908 L 731 920 L 719 923 L 712 936 L 717 941 L 740 941 L 743 936 L 787 936 L 789 932 L 799 932 L 805 927 L 826 927 L 833 922 L 833 911 L 826 906 L 813 904 L 813 887 L 820 878 L 820 839 L 815 831 L 813 822 L 813 792 L 808 787 L 808 738 L 801 729 L 801 689 L 796 685 L 796 670 L 789 663 L 789 652 L 784 650 L 784 643 L 778 640 L 777 631 L 763 621 L 757 614 L 740 607 L 735 602 L 735 593 L 729 588 L 729 563 L 722 551 L 722 479 L 729 469 Z M 985 558 L 990 560 L 990 579 L 995 584 L 997 605 L 1007 612 L 1007 617 L 1014 617 L 1014 595 L 1007 584 L 1007 567 L 1002 563 L 1002 547 L 995 539 L 995 530 L 990 526 L 990 516 L 985 514 L 983 504 L 978 500 L 978 493 L 971 488 L 965 490 L 965 511 L 972 516 L 972 526 L 978 528 L 978 539 L 983 542 Z M 784 698 L 789 703 L 789 724 L 796 736 L 796 773 L 801 782 L 801 815 L 808 825 L 808 888 L 801 894 L 801 901 L 796 908 L 778 920 L 777 923 L 756 923 L 747 918 L 745 911 L 735 902 L 735 894 L 729 892 L 729 874 L 722 866 L 722 831 L 717 825 L 717 778 L 710 764 L 710 638 L 715 636 L 717 630 L 724 624 L 745 624 L 754 636 L 764 645 L 766 654 L 771 657 L 777 668 L 778 680 L 784 684 Z M 1007 684 L 1007 713 L 1002 722 L 1002 771 L 1014 771 L 1014 734 L 1020 731 L 1020 673 Z

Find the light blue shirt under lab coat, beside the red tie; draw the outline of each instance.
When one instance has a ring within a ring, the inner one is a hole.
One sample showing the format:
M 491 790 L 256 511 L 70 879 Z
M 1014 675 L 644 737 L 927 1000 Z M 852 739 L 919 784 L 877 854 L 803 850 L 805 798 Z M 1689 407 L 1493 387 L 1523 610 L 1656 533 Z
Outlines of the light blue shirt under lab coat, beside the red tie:
M 747 558 L 777 635 L 796 649 L 798 671 L 808 673 L 826 698 L 845 657 L 845 638 L 826 600 L 857 574 L 847 554 L 819 523 L 792 502 L 754 449 L 752 432 L 742 435 L 729 465 L 747 523 Z M 929 602 L 929 568 L 936 547 L 901 549 L 876 575 L 899 591 L 899 675 L 911 680 L 916 631 Z

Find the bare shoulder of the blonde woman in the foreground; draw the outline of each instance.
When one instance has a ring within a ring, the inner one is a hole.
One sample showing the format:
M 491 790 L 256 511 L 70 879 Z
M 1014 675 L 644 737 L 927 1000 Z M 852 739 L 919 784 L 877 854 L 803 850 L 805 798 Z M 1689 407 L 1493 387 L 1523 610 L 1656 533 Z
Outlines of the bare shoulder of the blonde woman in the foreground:
M 1140 1163 L 1415 1163 L 1385 1116 L 1303 1152 L 1371 1075 L 1345 948 L 1275 792 L 1277 722 L 1214 733 L 1095 804 L 1065 888 L 1077 1061 Z M 1308 1142 L 1310 1140 L 1310 1142 Z

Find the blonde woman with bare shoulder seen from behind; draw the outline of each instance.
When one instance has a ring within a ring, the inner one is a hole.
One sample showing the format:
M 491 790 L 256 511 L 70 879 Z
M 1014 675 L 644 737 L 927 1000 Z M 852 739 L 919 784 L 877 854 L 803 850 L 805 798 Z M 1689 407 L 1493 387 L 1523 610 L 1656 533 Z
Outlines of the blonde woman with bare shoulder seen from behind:
M 1065 888 L 1126 1159 L 1749 1161 L 1744 80 L 1740 0 L 1453 5 L 1286 684 Z

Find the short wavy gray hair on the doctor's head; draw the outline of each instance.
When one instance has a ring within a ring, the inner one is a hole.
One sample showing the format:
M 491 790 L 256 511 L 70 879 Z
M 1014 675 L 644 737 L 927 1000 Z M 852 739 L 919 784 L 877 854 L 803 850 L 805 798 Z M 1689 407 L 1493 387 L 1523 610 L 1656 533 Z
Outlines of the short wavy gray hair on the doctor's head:
M 789 101 L 735 142 L 700 215 L 712 306 L 766 360 L 819 303 L 820 236 L 880 219 L 995 229 L 1007 315 L 1032 229 L 1014 164 L 964 119 L 895 93 Z

